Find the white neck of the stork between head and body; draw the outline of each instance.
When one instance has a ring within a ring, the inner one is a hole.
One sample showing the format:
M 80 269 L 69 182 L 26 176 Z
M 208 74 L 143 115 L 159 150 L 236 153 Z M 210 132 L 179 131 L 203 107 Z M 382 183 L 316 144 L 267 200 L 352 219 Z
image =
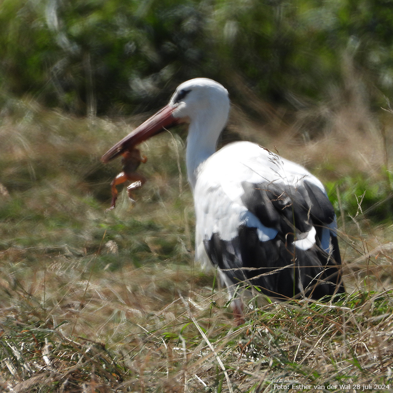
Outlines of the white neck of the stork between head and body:
M 206 133 L 207 124 L 193 124 L 189 126 L 186 149 L 187 176 L 194 191 L 197 182 L 198 168 L 215 151 L 221 130 Z

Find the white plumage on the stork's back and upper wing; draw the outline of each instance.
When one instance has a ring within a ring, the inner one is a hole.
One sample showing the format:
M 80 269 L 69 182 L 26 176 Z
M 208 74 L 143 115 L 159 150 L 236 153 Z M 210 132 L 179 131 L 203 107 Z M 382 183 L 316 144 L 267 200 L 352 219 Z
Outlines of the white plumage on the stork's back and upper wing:
M 303 187 L 306 179 L 325 193 L 322 183 L 305 168 L 255 143 L 234 142 L 226 145 L 209 157 L 198 171 L 194 191 L 197 234 L 203 234 L 202 238 L 206 238 L 218 231 L 223 240 L 231 240 L 237 235 L 238 227 L 245 224 L 258 229 L 261 242 L 274 239 L 278 228 L 263 225 L 244 205 L 241 197 L 245 191 L 241 183 L 266 182 L 267 188 L 269 184 L 275 184 L 279 187 L 291 185 L 298 189 Z M 290 196 L 283 194 L 280 197 L 287 198 L 290 203 Z M 315 234 L 315 230 L 310 232 Z M 308 239 L 306 235 L 304 233 L 295 241 L 298 247 L 309 248 L 315 244 L 315 238 Z M 304 240 L 309 240 L 308 244 Z M 327 242 L 323 243 L 326 247 Z M 329 252 L 329 248 L 325 251 Z

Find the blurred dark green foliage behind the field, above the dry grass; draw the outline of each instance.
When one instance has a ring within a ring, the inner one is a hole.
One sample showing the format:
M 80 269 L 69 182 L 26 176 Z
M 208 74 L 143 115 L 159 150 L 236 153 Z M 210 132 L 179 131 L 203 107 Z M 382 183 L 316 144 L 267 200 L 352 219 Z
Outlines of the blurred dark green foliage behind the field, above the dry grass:
M 378 103 L 393 87 L 392 5 L 2 0 L 0 91 L 77 114 L 130 114 L 205 76 L 235 100 L 240 81 L 267 101 L 298 106 L 323 100 L 332 86 L 345 90 L 351 61 Z

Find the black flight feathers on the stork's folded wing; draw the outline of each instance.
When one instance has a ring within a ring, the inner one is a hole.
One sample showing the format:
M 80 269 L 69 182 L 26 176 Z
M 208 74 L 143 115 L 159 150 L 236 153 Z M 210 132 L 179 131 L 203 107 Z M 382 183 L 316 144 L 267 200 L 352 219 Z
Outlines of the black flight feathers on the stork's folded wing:
M 204 241 L 213 264 L 233 283 L 256 285 L 263 293 L 280 299 L 300 293 L 319 299 L 344 292 L 336 236 L 331 235 L 331 255 L 319 247 L 320 239 L 309 250 L 293 243 L 312 226 L 318 236 L 323 225 L 335 219 L 333 206 L 323 191 L 306 180 L 302 184 L 296 188 L 282 183 L 242 183 L 244 205 L 263 225 L 276 228 L 278 234 L 262 242 L 257 228 L 241 225 L 238 236 L 231 240 L 213 233 Z

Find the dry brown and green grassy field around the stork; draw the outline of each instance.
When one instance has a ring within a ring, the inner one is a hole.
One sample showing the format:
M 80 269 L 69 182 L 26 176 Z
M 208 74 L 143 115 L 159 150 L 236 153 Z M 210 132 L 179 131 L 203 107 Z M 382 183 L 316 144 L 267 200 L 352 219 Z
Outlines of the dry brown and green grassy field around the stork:
M 9 100 L 0 391 L 393 391 L 392 116 L 355 103 L 269 112 L 261 126 L 233 108 L 224 142 L 258 141 L 327 185 L 348 291 L 336 304 L 250 299 L 235 327 L 215 272 L 194 263 L 184 131 L 142 144 L 149 181 L 136 206 L 122 192 L 106 212 L 121 165 L 99 158 L 146 116 L 75 118 Z

